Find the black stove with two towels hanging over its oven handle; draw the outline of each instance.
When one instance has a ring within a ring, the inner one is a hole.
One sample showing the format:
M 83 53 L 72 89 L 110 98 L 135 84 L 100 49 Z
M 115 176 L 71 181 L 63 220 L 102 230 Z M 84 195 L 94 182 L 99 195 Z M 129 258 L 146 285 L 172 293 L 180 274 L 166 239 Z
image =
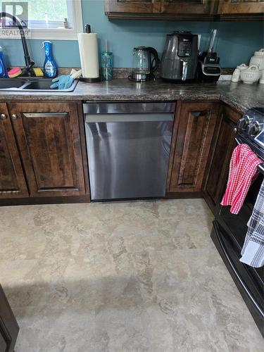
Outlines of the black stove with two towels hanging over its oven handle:
M 218 204 L 211 238 L 264 336 L 263 268 L 252 268 L 239 261 L 248 229 L 247 222 L 264 177 L 264 108 L 249 109 L 237 123 L 236 130 L 237 144 L 250 146 L 263 163 L 258 165 L 258 176 L 251 184 L 239 214 L 234 215 L 230 213 L 230 207 Z

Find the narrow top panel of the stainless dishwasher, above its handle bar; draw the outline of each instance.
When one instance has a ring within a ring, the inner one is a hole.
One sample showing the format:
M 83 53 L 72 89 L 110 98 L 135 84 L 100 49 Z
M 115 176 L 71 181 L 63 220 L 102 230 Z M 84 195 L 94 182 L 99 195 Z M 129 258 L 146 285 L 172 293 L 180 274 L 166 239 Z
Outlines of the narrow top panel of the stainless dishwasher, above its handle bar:
M 84 114 L 175 113 L 176 103 L 83 103 Z

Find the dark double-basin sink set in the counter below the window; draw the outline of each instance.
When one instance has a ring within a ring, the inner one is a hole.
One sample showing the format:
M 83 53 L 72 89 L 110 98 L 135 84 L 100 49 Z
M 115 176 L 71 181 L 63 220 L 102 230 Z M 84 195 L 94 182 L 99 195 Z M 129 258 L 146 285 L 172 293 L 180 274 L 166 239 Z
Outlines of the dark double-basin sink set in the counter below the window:
M 0 91 L 26 91 L 26 92 L 73 92 L 77 80 L 68 89 L 51 89 L 51 78 L 42 77 L 17 77 L 0 78 Z

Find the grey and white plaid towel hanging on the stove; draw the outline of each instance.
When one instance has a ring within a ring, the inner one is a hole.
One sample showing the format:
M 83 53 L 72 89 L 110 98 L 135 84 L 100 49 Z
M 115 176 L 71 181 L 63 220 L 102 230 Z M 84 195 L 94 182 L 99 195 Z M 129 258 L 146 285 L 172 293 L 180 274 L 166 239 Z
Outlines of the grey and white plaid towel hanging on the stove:
M 249 229 L 241 255 L 240 261 L 253 268 L 264 265 L 264 180 L 249 219 Z

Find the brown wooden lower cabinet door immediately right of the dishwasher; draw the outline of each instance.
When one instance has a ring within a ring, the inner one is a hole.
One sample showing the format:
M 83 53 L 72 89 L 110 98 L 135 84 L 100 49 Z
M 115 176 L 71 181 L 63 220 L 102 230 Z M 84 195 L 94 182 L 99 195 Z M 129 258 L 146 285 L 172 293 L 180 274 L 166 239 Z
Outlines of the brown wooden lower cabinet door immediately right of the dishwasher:
M 218 103 L 178 104 L 168 191 L 201 191 L 218 110 Z

